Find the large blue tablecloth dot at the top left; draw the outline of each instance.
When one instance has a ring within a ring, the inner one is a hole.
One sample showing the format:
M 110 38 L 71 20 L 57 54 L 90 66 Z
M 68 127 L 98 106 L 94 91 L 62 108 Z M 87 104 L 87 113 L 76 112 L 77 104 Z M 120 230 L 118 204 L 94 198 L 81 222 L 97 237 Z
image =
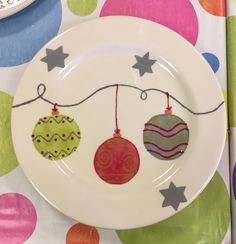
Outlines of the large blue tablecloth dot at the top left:
M 60 0 L 36 0 L 23 11 L 0 21 L 0 67 L 30 61 L 60 28 Z

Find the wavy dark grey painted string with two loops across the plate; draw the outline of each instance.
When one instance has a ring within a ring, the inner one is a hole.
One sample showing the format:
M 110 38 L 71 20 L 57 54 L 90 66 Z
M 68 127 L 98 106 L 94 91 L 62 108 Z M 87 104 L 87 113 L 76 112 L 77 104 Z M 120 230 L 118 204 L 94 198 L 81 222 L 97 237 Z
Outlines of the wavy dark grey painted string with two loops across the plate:
M 105 89 L 108 89 L 108 88 L 111 88 L 111 87 L 128 87 L 128 88 L 133 88 L 135 90 L 138 90 L 140 92 L 140 99 L 141 100 L 146 100 L 148 98 L 148 92 L 151 92 L 151 91 L 155 91 L 155 92 L 159 92 L 159 93 L 162 93 L 166 96 L 167 92 L 161 90 L 161 89 L 156 89 L 156 88 L 148 88 L 148 89 L 140 89 L 139 87 L 137 86 L 132 86 L 132 85 L 127 85 L 127 84 L 111 84 L 111 85 L 107 85 L 107 86 L 103 86 L 103 87 L 100 87 L 99 89 L 95 90 L 93 93 L 91 93 L 90 95 L 88 95 L 87 97 L 85 97 L 84 99 L 82 99 L 81 101 L 77 102 L 77 103 L 72 103 L 72 104 L 58 104 L 58 103 L 55 103 L 55 102 L 52 102 L 51 100 L 47 99 L 44 97 L 44 94 L 46 93 L 47 91 L 47 88 L 44 84 L 39 84 L 38 87 L 37 87 L 37 94 L 38 96 L 31 99 L 31 100 L 28 100 L 28 101 L 25 101 L 23 103 L 19 103 L 19 104 L 16 104 L 16 105 L 13 105 L 12 108 L 19 108 L 21 106 L 24 106 L 24 105 L 27 105 L 27 104 L 30 104 L 30 103 L 33 103 L 39 99 L 43 100 L 44 102 L 47 102 L 51 105 L 54 105 L 54 104 L 57 104 L 57 107 L 75 107 L 75 106 L 78 106 L 84 102 L 86 102 L 88 99 L 90 99 L 91 97 L 93 97 L 94 95 L 96 95 L 98 92 L 100 91 L 103 91 Z M 169 94 L 169 93 L 168 93 Z M 213 113 L 215 111 L 217 111 L 223 104 L 224 104 L 224 101 L 222 101 L 217 107 L 209 110 L 209 111 L 205 111 L 205 112 L 194 112 L 193 110 L 191 110 L 190 108 L 188 108 L 187 106 L 185 106 L 182 102 L 180 102 L 176 97 L 172 96 L 171 94 L 169 94 L 169 97 L 171 99 L 173 99 L 176 103 L 178 103 L 182 108 L 186 109 L 188 112 L 194 114 L 194 115 L 204 115 L 204 114 L 210 114 L 210 113 Z

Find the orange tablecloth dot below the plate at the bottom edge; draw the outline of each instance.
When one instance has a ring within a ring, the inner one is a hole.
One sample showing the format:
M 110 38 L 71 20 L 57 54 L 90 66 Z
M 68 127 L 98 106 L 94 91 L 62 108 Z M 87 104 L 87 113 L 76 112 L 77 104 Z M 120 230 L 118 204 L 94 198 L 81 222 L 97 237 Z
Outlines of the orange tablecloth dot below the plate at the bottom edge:
M 98 231 L 95 227 L 75 224 L 67 232 L 66 244 L 99 244 Z

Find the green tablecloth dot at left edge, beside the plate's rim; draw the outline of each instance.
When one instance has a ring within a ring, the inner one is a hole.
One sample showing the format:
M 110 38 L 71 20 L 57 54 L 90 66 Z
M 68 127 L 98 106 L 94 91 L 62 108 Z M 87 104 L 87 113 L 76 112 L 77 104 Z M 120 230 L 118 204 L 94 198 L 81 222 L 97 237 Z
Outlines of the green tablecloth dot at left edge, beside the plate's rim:
M 18 166 L 11 137 L 11 106 L 13 98 L 0 91 L 0 176 Z

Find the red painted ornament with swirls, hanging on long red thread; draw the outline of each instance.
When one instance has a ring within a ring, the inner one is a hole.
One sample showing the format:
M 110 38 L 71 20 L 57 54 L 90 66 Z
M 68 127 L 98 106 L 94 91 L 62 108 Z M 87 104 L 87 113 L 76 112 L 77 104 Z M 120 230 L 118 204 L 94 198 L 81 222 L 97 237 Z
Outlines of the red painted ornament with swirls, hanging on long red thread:
M 124 184 L 138 172 L 140 157 L 135 145 L 121 136 L 118 127 L 118 89 L 116 86 L 115 121 L 113 138 L 102 143 L 94 157 L 94 168 L 98 176 L 109 184 Z

